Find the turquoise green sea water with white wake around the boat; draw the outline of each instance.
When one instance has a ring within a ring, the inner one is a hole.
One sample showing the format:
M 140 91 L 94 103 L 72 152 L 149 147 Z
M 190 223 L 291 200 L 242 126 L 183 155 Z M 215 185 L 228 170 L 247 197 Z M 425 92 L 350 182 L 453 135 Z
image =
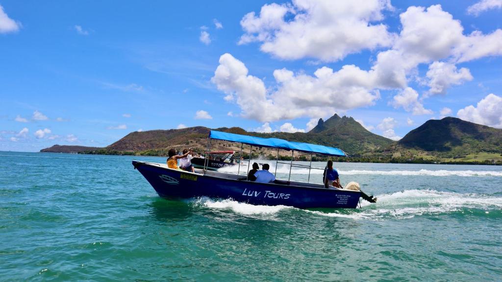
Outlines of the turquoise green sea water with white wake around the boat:
M 0 160 L 2 281 L 502 280 L 502 167 L 335 163 L 379 202 L 300 210 L 161 199 L 131 161 L 165 158 Z

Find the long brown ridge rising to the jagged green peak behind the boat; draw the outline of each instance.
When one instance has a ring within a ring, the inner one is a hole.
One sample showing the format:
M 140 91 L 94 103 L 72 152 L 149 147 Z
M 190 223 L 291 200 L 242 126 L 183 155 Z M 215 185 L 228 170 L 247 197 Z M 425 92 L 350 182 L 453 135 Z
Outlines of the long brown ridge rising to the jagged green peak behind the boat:
M 135 131 L 127 134 L 117 142 L 104 148 L 82 148 L 82 151 L 98 151 L 99 153 L 110 152 L 145 152 L 152 151 L 149 154 L 165 155 L 169 148 L 185 149 L 187 147 L 199 148 L 204 150 L 207 146 L 207 135 L 209 128 L 203 126 L 188 127 L 183 129 L 169 130 L 149 130 Z M 296 142 L 314 143 L 330 147 L 337 147 L 350 155 L 359 155 L 371 153 L 374 151 L 382 151 L 394 141 L 391 139 L 376 135 L 369 132 L 361 126 L 352 117 L 340 117 L 337 114 L 333 115 L 326 121 L 319 120 L 314 129 L 309 132 L 273 132 L 273 133 L 258 133 L 247 132 L 240 127 L 220 127 L 216 130 L 254 135 L 260 137 L 275 137 Z M 215 141 L 212 143 L 213 150 L 240 150 L 239 144 L 226 144 L 224 142 Z M 64 147 L 64 146 L 63 146 Z M 64 149 L 64 148 L 59 148 Z M 44 149 L 43 152 L 46 152 Z M 51 151 L 53 152 L 53 151 Z

